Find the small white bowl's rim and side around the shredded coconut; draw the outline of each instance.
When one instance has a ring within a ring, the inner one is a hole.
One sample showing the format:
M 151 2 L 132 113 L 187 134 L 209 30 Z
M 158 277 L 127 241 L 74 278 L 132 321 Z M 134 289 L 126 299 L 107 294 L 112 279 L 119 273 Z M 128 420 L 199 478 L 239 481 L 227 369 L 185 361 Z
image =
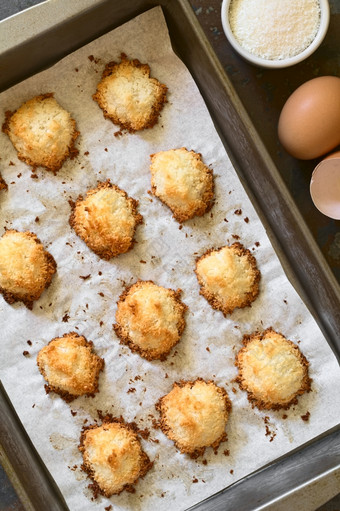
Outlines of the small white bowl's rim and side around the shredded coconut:
M 240 45 L 240 43 L 236 40 L 229 24 L 229 6 L 232 0 L 223 0 L 222 2 L 222 9 L 221 9 L 221 19 L 222 19 L 222 25 L 224 33 L 234 48 L 234 50 L 237 51 L 243 57 L 244 59 L 248 60 L 252 64 L 255 64 L 256 66 L 260 67 L 267 67 L 267 68 L 284 68 L 293 66 L 294 64 L 297 64 L 303 60 L 305 60 L 307 57 L 309 57 L 314 51 L 320 46 L 322 43 L 329 25 L 329 3 L 328 0 L 319 0 L 320 3 L 320 12 L 321 12 L 321 19 L 320 19 L 320 25 L 319 30 L 317 31 L 317 34 L 314 38 L 314 40 L 311 42 L 311 44 L 302 52 L 298 53 L 297 55 L 294 55 L 293 57 L 288 57 L 286 59 L 276 59 L 276 60 L 270 60 L 265 59 L 262 57 L 258 57 L 254 53 L 250 53 L 248 50 L 243 48 L 243 46 Z M 294 0 L 293 0 L 294 1 Z

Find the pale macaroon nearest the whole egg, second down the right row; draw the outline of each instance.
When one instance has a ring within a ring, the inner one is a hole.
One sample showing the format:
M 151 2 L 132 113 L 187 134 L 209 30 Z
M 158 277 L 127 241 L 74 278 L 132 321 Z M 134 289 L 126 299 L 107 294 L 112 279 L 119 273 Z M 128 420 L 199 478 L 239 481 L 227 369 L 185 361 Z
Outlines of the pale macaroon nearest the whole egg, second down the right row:
M 211 169 L 201 155 L 185 147 L 151 155 L 151 191 L 178 222 L 202 216 L 214 202 Z

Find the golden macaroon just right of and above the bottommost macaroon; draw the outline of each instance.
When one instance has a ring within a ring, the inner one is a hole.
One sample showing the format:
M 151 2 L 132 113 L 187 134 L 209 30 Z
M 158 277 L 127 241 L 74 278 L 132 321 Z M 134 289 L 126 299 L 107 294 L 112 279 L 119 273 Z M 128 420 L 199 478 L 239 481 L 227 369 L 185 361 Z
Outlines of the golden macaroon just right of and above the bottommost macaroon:
M 231 411 L 226 391 L 213 381 L 180 381 L 156 404 L 162 431 L 182 453 L 196 458 L 206 447 L 217 449 L 227 439 Z

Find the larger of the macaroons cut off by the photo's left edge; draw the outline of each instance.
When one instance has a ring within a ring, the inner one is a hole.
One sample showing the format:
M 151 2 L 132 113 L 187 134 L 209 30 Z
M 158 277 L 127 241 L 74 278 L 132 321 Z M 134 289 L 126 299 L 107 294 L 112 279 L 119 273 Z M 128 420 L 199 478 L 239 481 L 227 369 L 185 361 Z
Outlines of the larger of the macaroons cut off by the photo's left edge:
M 10 229 L 0 238 L 0 293 L 32 309 L 56 272 L 56 262 L 32 232 Z

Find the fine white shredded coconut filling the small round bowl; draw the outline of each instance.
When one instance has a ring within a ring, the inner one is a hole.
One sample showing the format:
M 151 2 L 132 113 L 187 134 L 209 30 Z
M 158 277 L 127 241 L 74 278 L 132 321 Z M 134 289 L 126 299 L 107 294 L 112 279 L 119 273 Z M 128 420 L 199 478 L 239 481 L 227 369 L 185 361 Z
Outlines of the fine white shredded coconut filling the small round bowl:
M 318 0 L 232 0 L 230 28 L 238 43 L 268 60 L 298 55 L 314 40 L 320 25 Z

